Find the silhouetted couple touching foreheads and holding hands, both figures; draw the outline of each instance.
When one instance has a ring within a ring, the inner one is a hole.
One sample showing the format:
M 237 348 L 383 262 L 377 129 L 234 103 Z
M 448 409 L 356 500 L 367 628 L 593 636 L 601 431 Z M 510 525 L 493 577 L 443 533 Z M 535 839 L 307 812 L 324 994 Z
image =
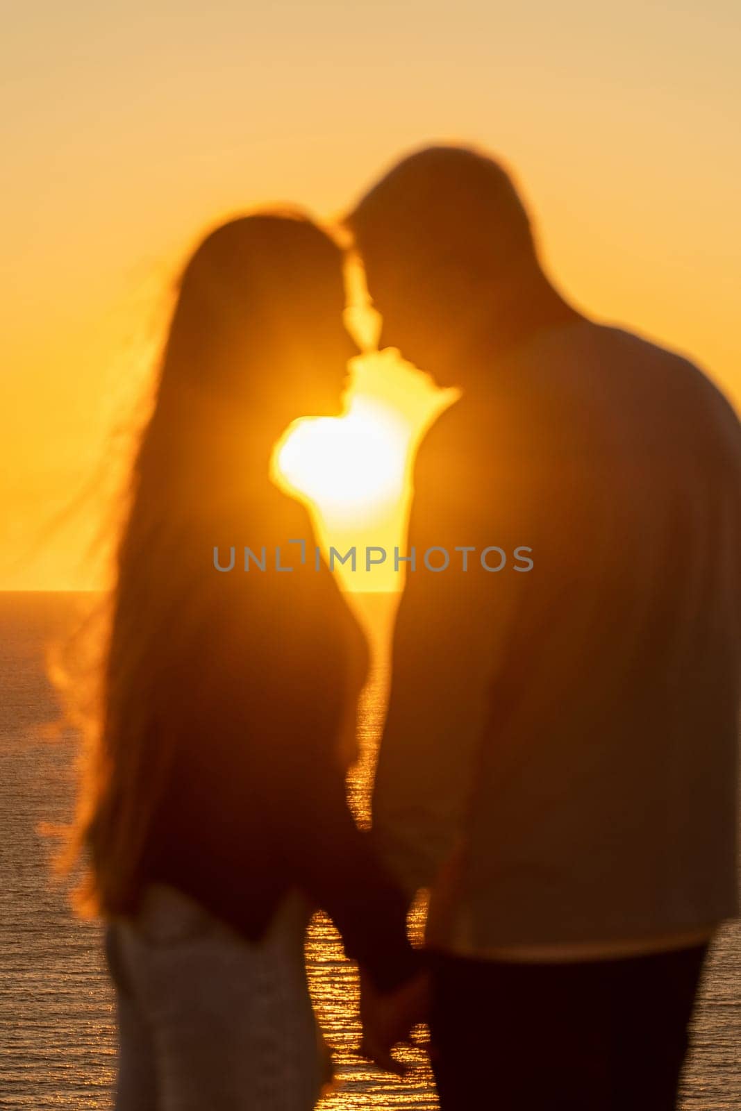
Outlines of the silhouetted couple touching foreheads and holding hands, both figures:
M 133 468 L 80 818 L 117 1107 L 308 1111 L 323 908 L 366 1052 L 394 1068 L 429 1019 L 443 1111 L 669 1111 L 737 907 L 739 423 L 684 359 L 565 303 L 493 161 L 412 156 L 348 227 L 384 343 L 462 390 L 419 452 L 408 546 L 527 546 L 533 569 L 408 574 L 361 832 L 367 650 L 336 579 L 211 562 L 311 536 L 269 463 L 292 419 L 341 409 L 342 253 L 297 214 L 210 234 Z

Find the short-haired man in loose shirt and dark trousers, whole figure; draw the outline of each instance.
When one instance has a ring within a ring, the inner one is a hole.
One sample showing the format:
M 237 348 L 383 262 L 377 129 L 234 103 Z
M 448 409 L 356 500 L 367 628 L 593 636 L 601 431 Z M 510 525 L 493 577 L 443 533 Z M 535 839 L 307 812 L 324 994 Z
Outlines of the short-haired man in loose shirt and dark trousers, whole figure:
M 737 910 L 739 422 L 563 300 L 494 161 L 423 150 L 348 222 L 384 342 L 462 390 L 415 464 L 373 799 L 431 889 L 441 1107 L 669 1111 Z

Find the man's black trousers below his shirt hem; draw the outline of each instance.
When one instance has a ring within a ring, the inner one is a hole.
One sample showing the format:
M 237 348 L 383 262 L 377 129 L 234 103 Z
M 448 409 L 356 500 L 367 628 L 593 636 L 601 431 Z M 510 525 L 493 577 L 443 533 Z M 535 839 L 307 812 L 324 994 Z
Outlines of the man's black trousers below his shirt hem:
M 568 964 L 433 954 L 441 1111 L 673 1111 L 707 948 Z

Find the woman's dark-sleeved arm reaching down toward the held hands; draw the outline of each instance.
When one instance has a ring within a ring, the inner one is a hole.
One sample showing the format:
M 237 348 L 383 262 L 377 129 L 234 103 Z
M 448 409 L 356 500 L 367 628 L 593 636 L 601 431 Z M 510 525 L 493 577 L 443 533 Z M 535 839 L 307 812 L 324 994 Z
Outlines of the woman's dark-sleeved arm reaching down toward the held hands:
M 389 990 L 419 971 L 407 938 L 409 901 L 354 823 L 338 745 L 348 701 L 354 704 L 364 678 L 364 639 L 328 571 L 297 581 L 289 593 L 281 638 L 288 689 L 274 737 L 276 835 L 287 870 L 330 914 L 348 957 Z

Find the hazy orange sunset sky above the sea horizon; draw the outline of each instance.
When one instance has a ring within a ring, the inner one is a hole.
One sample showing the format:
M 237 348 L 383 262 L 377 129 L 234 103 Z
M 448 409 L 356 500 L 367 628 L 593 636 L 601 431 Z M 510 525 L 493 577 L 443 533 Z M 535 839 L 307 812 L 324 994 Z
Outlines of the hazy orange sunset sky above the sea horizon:
M 738 402 L 740 27 L 730 0 L 16 6 L 0 588 L 94 583 L 111 428 L 200 230 L 271 199 L 338 212 L 420 142 L 503 154 L 562 289 Z

